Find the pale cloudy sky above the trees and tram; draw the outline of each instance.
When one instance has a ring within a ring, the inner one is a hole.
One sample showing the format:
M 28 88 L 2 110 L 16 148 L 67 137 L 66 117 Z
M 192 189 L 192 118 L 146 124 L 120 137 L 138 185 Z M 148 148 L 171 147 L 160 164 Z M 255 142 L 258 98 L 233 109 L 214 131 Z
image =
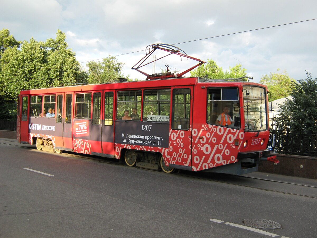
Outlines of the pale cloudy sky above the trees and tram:
M 124 76 L 145 79 L 131 67 L 148 45 L 165 43 L 212 59 L 224 71 L 241 64 L 253 82 L 283 71 L 294 79 L 305 78 L 305 70 L 317 77 L 316 0 L 10 0 L 1 9 L 0 29 L 18 41 L 46 41 L 58 29 L 64 32 L 83 69 L 87 61 L 111 55 L 124 63 Z M 305 20 L 311 21 L 294 23 Z M 288 25 L 271 27 L 282 24 Z M 182 72 L 196 62 L 164 58 L 156 72 L 165 65 Z M 152 74 L 152 66 L 144 71 Z

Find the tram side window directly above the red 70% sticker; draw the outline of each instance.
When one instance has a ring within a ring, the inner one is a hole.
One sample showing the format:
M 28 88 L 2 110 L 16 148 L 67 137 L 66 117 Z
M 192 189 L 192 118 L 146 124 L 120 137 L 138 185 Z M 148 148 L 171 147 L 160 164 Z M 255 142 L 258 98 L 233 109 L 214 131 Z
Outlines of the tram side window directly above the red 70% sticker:
M 91 93 L 76 94 L 75 118 L 91 119 Z

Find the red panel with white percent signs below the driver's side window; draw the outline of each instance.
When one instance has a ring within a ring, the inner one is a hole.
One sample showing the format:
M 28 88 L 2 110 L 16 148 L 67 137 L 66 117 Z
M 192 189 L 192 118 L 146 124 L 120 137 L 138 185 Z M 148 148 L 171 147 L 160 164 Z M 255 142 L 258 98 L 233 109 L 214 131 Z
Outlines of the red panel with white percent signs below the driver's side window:
M 192 170 L 199 171 L 237 162 L 244 133 L 242 130 L 202 124 L 192 131 Z M 235 139 L 239 144 L 235 145 Z

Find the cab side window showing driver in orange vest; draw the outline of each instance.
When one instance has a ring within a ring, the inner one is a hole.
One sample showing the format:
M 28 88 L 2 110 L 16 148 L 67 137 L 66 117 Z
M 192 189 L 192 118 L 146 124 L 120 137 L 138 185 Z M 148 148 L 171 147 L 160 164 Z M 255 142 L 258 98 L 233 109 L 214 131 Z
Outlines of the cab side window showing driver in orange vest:
M 239 117 L 237 88 L 209 88 L 207 95 L 207 123 L 233 127 Z

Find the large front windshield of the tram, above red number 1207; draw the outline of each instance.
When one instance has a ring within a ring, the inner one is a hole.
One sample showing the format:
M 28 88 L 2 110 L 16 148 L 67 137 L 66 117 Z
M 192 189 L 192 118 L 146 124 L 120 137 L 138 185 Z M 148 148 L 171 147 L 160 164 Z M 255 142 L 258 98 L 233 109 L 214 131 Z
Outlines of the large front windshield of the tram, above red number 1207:
M 243 86 L 245 130 L 267 129 L 266 92 L 264 88 Z

